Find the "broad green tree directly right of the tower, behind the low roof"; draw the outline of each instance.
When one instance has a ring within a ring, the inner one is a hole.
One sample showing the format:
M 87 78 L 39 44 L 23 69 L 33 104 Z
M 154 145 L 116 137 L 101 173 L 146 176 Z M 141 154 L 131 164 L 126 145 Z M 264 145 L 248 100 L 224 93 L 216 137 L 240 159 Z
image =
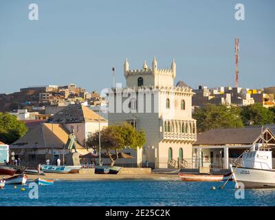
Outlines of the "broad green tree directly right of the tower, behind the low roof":
M 195 111 L 193 118 L 197 120 L 197 131 L 203 132 L 210 129 L 241 127 L 243 122 L 239 114 L 239 107 L 206 104 L 205 107 Z

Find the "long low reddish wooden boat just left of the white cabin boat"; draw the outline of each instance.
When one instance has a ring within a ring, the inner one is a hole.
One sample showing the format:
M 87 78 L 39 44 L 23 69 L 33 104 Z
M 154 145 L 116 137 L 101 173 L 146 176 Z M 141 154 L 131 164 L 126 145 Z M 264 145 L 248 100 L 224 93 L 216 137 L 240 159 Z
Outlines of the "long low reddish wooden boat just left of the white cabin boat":
M 212 175 L 206 173 L 179 173 L 182 181 L 225 181 L 231 176 L 231 173 L 226 175 Z M 232 180 L 231 178 L 229 180 Z

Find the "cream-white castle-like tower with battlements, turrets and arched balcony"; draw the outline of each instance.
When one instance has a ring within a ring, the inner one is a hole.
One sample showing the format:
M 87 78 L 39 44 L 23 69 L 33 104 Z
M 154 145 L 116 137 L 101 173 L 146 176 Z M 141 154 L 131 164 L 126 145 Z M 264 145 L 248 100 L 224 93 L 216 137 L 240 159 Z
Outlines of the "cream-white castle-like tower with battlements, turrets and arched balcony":
M 125 88 L 108 94 L 109 124 L 129 122 L 146 133 L 144 146 L 133 152 L 137 166 L 146 162 L 156 168 L 192 164 L 192 143 L 197 140 L 192 119 L 192 89 L 174 87 L 175 61 L 171 69 L 159 69 L 156 58 L 152 68 L 129 69 L 124 63 Z M 188 162 L 189 161 L 189 162 Z

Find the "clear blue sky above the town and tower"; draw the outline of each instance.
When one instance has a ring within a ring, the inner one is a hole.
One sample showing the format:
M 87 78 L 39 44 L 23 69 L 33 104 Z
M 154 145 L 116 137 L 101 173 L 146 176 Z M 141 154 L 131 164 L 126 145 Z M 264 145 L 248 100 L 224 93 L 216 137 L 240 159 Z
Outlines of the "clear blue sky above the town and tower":
M 28 5 L 39 5 L 39 21 Z M 245 21 L 234 5 L 245 5 Z M 273 0 L 0 0 L 0 93 L 29 85 L 76 83 L 100 91 L 124 83 L 123 62 L 140 69 L 157 56 L 177 63 L 177 80 L 234 86 L 234 38 L 240 39 L 239 85 L 275 85 Z

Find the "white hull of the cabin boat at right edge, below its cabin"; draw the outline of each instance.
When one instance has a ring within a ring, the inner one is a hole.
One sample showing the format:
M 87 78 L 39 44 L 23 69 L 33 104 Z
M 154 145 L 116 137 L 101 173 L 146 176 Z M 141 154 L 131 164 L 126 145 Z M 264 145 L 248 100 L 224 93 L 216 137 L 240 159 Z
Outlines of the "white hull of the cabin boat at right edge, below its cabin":
M 257 168 L 230 166 L 236 188 L 243 184 L 245 188 L 275 188 L 275 171 Z

